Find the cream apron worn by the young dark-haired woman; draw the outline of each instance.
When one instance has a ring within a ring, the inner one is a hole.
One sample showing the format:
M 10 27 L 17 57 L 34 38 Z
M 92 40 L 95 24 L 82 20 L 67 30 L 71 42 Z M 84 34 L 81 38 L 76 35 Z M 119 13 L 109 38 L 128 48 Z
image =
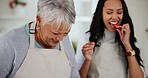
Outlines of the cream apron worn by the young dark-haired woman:
M 95 47 L 88 78 L 127 78 L 127 63 L 119 46 L 110 40 Z

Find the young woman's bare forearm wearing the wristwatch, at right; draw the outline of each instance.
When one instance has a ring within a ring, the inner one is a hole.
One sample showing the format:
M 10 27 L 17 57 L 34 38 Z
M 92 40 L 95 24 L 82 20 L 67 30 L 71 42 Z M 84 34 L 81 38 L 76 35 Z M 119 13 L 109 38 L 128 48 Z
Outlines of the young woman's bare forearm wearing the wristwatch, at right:
M 126 46 L 126 52 L 133 50 L 130 45 Z M 130 78 L 144 78 L 144 73 L 135 56 L 127 56 Z

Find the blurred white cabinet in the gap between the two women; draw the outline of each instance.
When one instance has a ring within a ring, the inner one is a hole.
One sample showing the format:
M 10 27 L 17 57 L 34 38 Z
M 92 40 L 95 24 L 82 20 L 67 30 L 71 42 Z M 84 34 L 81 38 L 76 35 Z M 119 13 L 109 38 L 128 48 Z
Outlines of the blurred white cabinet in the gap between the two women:
M 73 42 L 78 42 L 82 35 L 88 31 L 92 16 L 98 0 L 74 0 L 76 21 L 73 24 L 69 36 Z

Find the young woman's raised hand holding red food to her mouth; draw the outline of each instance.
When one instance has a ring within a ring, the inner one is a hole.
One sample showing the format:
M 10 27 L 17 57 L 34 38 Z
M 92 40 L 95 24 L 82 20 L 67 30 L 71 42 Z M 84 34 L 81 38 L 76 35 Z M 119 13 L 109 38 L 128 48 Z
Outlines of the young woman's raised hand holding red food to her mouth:
M 116 29 L 124 46 L 130 44 L 130 27 L 129 24 L 123 24 L 120 29 Z

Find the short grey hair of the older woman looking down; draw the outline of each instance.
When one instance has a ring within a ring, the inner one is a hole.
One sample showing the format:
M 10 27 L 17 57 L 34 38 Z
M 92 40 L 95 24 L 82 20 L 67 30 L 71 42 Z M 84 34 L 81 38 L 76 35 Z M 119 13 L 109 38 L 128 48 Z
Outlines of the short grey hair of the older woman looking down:
M 73 0 L 39 0 L 37 16 L 43 24 L 64 25 L 70 27 L 75 22 L 75 7 Z

